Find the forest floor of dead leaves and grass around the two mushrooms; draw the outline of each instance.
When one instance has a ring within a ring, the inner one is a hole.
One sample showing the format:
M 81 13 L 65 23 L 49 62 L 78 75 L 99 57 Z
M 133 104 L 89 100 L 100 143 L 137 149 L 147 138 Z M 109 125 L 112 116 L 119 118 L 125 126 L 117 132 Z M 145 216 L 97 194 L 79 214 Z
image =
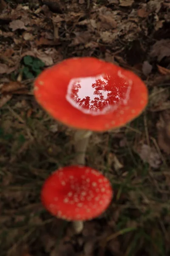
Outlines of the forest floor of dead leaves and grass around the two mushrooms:
M 33 96 L 35 77 L 73 56 L 132 70 L 150 94 L 133 122 L 92 135 L 86 163 L 115 193 L 79 235 L 40 202 L 73 131 Z M 0 256 L 170 255 L 169 0 L 0 0 L 0 215 Z

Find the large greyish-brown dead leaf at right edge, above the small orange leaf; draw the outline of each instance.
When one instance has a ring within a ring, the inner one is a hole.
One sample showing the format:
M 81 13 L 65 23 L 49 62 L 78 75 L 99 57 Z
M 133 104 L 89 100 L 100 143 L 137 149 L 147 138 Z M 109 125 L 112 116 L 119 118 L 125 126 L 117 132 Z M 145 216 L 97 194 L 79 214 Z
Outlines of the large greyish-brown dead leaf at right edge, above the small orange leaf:
M 157 41 L 150 52 L 151 57 L 157 57 L 161 61 L 164 57 L 170 56 L 170 39 L 161 39 Z

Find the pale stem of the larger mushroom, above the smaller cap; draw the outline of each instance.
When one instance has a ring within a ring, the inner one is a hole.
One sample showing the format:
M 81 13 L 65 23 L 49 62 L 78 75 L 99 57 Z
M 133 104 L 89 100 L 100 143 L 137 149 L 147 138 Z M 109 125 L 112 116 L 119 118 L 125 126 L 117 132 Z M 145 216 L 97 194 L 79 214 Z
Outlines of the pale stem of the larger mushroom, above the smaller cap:
M 92 131 L 76 131 L 74 134 L 74 147 L 76 151 L 75 164 L 85 165 L 85 153 Z

